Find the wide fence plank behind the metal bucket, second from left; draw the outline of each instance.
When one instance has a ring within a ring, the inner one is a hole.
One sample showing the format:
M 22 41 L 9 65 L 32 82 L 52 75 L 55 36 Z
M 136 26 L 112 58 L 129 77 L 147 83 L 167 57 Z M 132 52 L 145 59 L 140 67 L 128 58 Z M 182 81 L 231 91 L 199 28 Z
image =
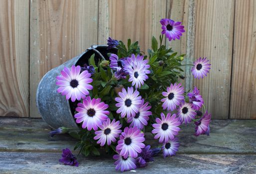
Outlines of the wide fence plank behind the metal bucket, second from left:
M 30 116 L 35 92 L 50 69 L 98 42 L 98 0 L 31 0 Z

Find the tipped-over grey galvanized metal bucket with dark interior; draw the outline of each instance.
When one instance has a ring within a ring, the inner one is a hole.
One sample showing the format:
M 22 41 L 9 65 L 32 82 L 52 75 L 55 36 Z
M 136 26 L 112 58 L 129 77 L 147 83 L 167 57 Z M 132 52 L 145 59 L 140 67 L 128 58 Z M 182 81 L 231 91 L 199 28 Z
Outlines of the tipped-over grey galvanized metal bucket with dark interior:
M 95 62 L 98 62 L 102 58 L 108 60 L 107 53 L 116 52 L 117 49 L 107 49 L 105 45 L 92 46 L 84 53 L 50 70 L 43 76 L 36 91 L 36 105 L 43 120 L 49 126 L 54 129 L 62 126 L 78 127 L 74 120 L 74 109 L 77 102 L 73 103 L 71 100 L 66 100 L 65 96 L 57 92 L 56 77 L 60 75 L 61 70 L 64 67 L 71 68 L 72 65 L 88 65 L 88 60 L 93 54 L 95 54 Z

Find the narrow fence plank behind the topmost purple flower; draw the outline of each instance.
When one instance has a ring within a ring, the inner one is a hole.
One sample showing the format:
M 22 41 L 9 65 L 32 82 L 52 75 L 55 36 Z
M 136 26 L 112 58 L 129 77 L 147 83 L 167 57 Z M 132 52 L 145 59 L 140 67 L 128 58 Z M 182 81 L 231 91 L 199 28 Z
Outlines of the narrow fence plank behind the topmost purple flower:
M 167 17 L 175 21 L 181 21 L 184 25 L 185 33 L 180 40 L 169 41 L 166 39 L 166 45 L 171 47 L 179 55 L 186 54 L 184 64 L 191 64 L 194 60 L 195 43 L 195 12 L 194 0 L 167 0 Z M 185 80 L 180 80 L 186 91 L 193 86 L 193 77 L 191 76 L 191 67 L 181 67 L 184 70 Z

